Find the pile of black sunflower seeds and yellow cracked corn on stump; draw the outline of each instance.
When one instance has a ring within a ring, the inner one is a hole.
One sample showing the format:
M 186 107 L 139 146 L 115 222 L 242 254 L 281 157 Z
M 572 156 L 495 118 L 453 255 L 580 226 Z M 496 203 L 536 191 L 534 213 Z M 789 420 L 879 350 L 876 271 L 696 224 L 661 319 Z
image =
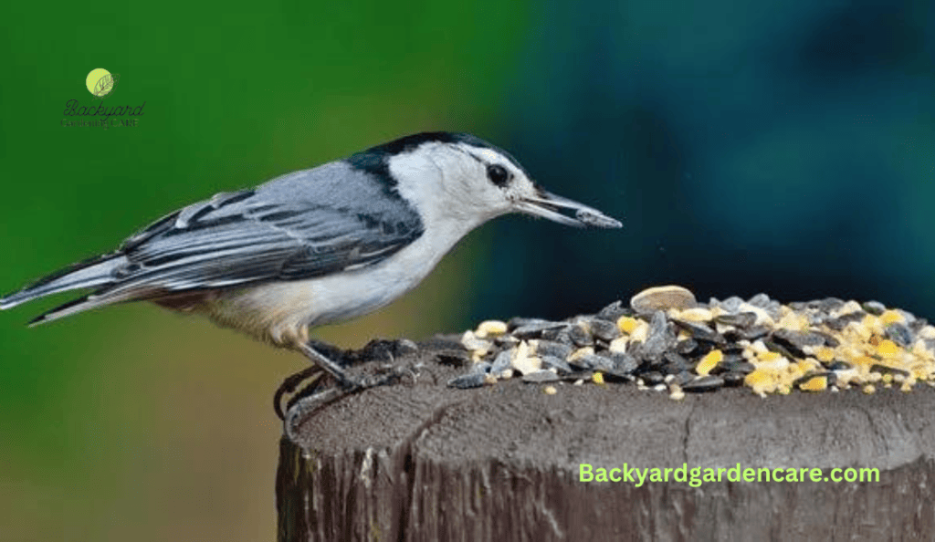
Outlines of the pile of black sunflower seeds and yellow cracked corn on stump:
M 782 305 L 760 293 L 697 303 L 662 286 L 593 316 L 565 321 L 484 321 L 465 332 L 471 368 L 449 386 L 636 381 L 641 389 L 710 392 L 747 386 L 767 393 L 935 386 L 935 327 L 870 301 L 827 298 Z M 554 386 L 546 392 L 554 393 Z

